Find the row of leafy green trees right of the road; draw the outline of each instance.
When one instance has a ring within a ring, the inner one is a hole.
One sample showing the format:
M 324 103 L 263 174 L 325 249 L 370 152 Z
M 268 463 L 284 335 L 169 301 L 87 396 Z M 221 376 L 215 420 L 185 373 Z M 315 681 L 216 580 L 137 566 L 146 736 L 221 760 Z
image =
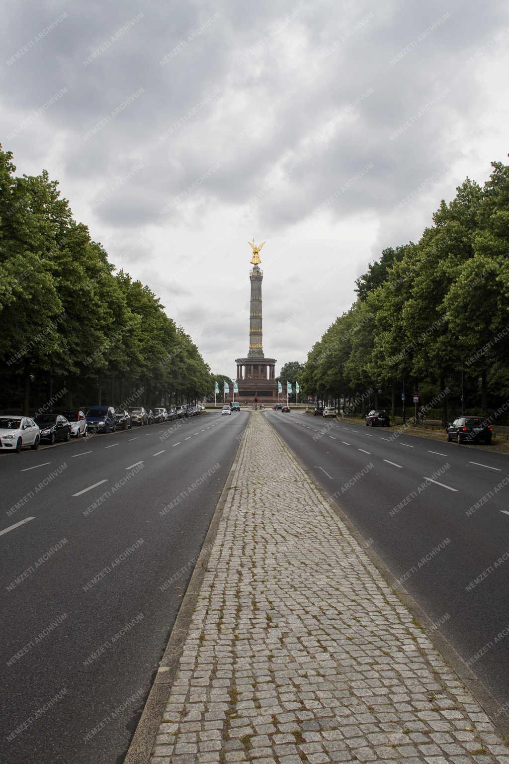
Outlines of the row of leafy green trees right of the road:
M 509 397 L 509 167 L 484 186 L 467 177 L 442 200 L 417 244 L 382 251 L 356 280 L 357 298 L 308 353 L 308 394 L 356 410 L 464 410 L 506 421 Z

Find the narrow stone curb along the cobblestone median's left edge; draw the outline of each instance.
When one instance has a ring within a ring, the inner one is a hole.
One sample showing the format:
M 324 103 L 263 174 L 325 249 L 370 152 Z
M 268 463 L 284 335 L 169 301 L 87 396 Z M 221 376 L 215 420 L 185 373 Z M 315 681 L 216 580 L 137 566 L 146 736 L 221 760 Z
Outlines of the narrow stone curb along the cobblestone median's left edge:
M 246 427 L 248 423 L 249 419 L 246 422 Z M 234 455 L 234 461 L 228 473 L 224 488 L 221 491 L 221 496 L 217 501 L 217 506 L 214 510 L 211 524 L 208 526 L 205 541 L 201 545 L 201 552 L 198 555 L 195 569 L 192 572 L 191 580 L 189 581 L 188 588 L 185 591 L 182 604 L 169 635 L 166 649 L 163 652 L 163 658 L 159 663 L 159 669 L 157 669 L 147 701 L 143 707 L 140 721 L 137 724 L 133 738 L 130 741 L 130 746 L 127 749 L 124 764 L 148 764 L 150 760 L 154 741 L 156 740 L 157 731 L 159 730 L 159 724 L 161 724 L 164 709 L 169 698 L 169 692 L 179 669 L 180 656 L 182 656 L 185 637 L 187 636 L 189 625 L 192 620 L 192 613 L 198 599 L 201 583 L 205 578 L 208 559 L 210 558 L 212 545 L 223 516 L 227 494 L 234 480 L 235 471 L 237 470 L 239 451 L 243 445 L 244 432 L 245 429 L 238 436 L 239 443 Z

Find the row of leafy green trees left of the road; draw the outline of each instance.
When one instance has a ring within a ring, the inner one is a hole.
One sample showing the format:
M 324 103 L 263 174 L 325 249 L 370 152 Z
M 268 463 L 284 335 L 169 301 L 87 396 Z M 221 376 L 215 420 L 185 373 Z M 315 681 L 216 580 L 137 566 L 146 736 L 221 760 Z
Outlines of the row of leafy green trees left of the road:
M 15 169 L 0 146 L 2 408 L 154 406 L 210 393 L 208 364 L 159 297 L 116 272 L 46 170 Z

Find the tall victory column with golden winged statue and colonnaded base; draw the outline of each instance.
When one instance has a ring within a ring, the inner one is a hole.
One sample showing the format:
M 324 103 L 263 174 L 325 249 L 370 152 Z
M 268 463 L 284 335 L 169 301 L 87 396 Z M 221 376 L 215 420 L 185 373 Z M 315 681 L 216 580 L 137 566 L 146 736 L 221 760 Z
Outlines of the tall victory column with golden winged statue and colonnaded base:
M 253 249 L 251 264 L 253 270 L 250 270 L 251 282 L 251 306 L 250 306 L 250 347 L 247 352 L 247 358 L 236 358 L 237 364 L 237 385 L 239 392 L 235 393 L 235 400 L 243 403 L 254 403 L 258 398 L 258 403 L 277 403 L 278 384 L 275 381 L 275 358 L 265 358 L 263 354 L 262 342 L 262 280 L 263 270 L 259 269 L 261 263 L 259 251 L 265 244 L 259 244 Z M 233 391 L 227 396 L 227 401 L 233 400 Z

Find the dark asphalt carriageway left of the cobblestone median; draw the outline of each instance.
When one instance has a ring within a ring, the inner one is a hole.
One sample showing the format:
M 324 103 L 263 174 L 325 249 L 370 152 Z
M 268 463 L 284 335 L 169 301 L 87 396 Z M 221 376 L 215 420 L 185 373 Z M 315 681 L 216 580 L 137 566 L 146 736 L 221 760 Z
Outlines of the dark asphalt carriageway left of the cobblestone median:
M 1 455 L 2 764 L 124 759 L 247 418 Z

